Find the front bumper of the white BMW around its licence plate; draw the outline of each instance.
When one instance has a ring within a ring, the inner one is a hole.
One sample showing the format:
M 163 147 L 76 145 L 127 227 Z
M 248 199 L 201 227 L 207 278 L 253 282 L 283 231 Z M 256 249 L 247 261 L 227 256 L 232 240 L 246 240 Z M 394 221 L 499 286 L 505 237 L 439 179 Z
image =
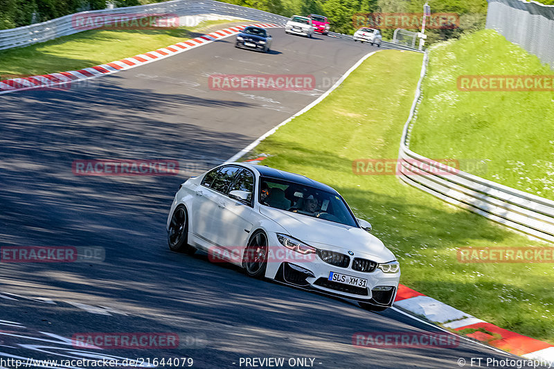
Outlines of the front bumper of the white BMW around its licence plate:
M 276 236 L 269 235 L 271 244 L 278 244 Z M 275 238 L 275 240 L 271 240 Z M 317 246 L 314 246 L 317 247 Z M 283 249 L 285 247 L 283 246 Z M 289 285 L 294 285 L 303 289 L 318 291 L 331 296 L 350 298 L 371 305 L 390 307 L 393 305 L 398 283 L 400 282 L 399 273 L 384 273 L 380 269 L 371 272 L 355 271 L 351 268 L 352 260 L 348 267 L 335 267 L 321 260 L 318 255 L 310 254 L 313 258 L 303 260 L 287 260 L 281 262 L 274 276 L 268 276 Z M 361 255 L 360 255 L 361 256 Z M 271 269 L 271 268 L 270 268 Z M 339 282 L 329 280 L 330 272 L 346 274 L 355 278 L 362 278 L 368 281 L 367 286 L 355 287 Z M 375 287 L 391 287 L 388 291 L 375 290 Z

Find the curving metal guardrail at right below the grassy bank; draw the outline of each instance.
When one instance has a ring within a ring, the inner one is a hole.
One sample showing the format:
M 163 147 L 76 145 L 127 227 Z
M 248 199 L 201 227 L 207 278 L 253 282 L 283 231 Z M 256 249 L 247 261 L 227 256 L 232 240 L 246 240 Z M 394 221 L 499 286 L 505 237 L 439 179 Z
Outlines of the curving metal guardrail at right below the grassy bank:
M 554 201 L 447 167 L 409 149 L 412 119 L 417 115 L 425 54 L 417 92 L 400 141 L 400 179 L 420 190 L 488 219 L 542 240 L 554 242 Z

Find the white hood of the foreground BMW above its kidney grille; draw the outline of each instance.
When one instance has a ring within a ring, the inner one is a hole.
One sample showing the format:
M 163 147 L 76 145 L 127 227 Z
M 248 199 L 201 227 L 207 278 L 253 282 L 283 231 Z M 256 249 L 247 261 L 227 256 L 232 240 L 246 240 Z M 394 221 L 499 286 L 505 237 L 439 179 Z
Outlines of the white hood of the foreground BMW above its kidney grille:
M 375 262 L 390 262 L 395 256 L 383 242 L 361 228 L 345 226 L 286 210 L 260 206 L 260 213 L 285 228 L 288 235 L 314 246 L 370 258 Z

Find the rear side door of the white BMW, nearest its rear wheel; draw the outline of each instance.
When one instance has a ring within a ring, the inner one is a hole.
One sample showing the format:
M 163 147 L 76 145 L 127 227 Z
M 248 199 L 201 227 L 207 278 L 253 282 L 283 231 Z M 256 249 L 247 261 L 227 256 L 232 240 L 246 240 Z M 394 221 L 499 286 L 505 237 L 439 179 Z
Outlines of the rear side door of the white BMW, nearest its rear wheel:
M 210 244 L 217 244 L 217 214 L 224 208 L 229 186 L 240 168 L 225 165 L 208 172 L 197 186 L 193 201 L 193 233 Z

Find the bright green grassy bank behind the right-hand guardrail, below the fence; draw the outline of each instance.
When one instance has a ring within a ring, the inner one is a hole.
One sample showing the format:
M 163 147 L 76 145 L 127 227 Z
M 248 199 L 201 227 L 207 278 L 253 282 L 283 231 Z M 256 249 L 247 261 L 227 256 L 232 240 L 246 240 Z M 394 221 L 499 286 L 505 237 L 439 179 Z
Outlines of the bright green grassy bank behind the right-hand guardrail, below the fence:
M 456 86 L 458 75 L 554 71 L 494 30 L 482 30 L 431 48 L 427 72 L 411 150 L 430 158 L 483 161 L 485 171 L 467 171 L 554 199 L 554 92 Z

